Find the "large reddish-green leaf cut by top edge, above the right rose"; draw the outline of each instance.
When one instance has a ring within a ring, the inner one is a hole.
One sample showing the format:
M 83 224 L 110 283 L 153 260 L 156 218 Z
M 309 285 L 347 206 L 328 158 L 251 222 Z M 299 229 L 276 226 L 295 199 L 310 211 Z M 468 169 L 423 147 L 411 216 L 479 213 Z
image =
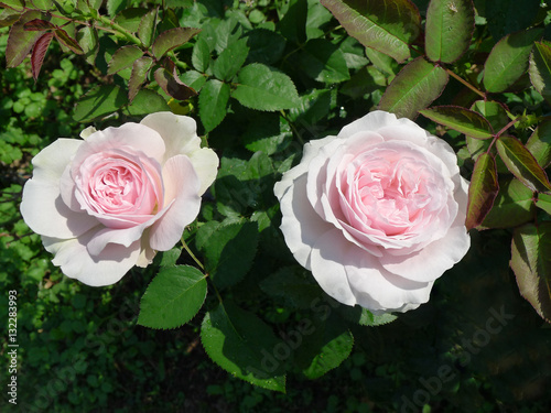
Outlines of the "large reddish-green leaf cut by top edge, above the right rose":
M 421 33 L 421 17 L 408 0 L 321 0 L 348 34 L 364 46 L 398 62 L 410 57 L 409 44 Z

